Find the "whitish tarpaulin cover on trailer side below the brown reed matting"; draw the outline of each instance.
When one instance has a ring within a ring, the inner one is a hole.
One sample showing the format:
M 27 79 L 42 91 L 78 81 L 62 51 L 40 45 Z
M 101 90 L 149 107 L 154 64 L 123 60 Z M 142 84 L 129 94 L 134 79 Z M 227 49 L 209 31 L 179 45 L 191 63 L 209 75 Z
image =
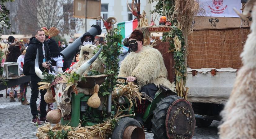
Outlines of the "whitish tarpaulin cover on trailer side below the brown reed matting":
M 196 69 L 197 74 L 192 76 L 192 70 L 187 69 L 186 86 L 189 87 L 189 102 L 227 102 L 236 80 L 236 69 L 222 68 L 216 70 L 216 75 L 212 76 L 209 69 Z

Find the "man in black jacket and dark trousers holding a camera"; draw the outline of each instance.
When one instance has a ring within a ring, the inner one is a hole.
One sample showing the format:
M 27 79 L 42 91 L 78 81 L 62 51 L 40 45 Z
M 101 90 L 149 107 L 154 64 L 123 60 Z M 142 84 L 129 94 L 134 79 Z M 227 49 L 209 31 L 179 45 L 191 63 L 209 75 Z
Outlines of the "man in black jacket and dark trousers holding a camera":
M 30 38 L 29 46 L 27 48 L 25 57 L 24 57 L 24 65 L 28 65 L 30 67 L 30 77 L 31 77 L 31 98 L 30 98 L 30 107 L 31 114 L 33 115 L 32 124 L 42 124 L 46 121 L 46 102 L 44 101 L 44 95 L 46 90 L 40 90 L 41 94 L 41 104 L 40 104 L 40 119 L 38 119 L 37 112 L 37 98 L 38 98 L 38 86 L 37 83 L 41 81 L 41 79 L 35 73 L 35 58 L 38 49 L 38 65 L 39 69 L 44 72 L 49 69 L 49 63 L 47 61 L 51 60 L 50 49 L 48 47 L 47 42 L 45 41 L 44 31 L 42 29 L 38 29 L 36 31 L 35 37 Z

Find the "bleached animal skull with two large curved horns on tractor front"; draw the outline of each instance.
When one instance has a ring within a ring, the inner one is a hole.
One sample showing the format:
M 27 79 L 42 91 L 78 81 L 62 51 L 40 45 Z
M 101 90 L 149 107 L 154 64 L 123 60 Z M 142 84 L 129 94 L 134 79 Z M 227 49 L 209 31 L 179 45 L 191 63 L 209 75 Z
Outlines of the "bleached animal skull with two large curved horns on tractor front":
M 76 71 L 76 74 L 80 75 L 80 79 L 79 81 L 81 81 L 81 78 L 83 76 L 83 73 L 86 69 L 88 69 L 88 67 L 97 59 L 97 57 L 99 56 L 99 54 L 101 53 L 103 46 L 101 46 L 101 48 L 99 49 L 99 51 L 87 62 L 83 63 L 83 65 L 81 65 Z M 38 66 L 38 50 L 37 50 L 37 54 L 36 54 L 36 59 L 35 59 L 35 73 L 37 74 L 37 76 L 41 79 L 44 78 L 44 75 L 42 75 L 42 71 L 39 69 Z M 65 116 L 65 115 L 69 115 L 71 112 L 71 93 L 73 91 L 73 88 L 66 88 L 67 86 L 67 82 L 62 81 L 61 77 L 60 78 L 56 78 L 53 83 L 51 84 L 51 90 L 47 89 L 47 91 L 51 91 L 52 94 L 56 95 L 54 97 L 58 109 L 61 110 L 61 116 Z

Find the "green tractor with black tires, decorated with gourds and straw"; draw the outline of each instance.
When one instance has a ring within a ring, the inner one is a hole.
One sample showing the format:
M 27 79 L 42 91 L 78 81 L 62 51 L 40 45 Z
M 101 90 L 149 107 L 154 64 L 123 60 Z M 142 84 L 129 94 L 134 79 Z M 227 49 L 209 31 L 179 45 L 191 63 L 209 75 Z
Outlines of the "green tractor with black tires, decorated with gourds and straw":
M 80 82 L 80 86 L 88 85 L 88 83 L 91 83 L 91 86 L 101 85 L 107 76 L 87 76 L 87 82 L 84 84 Z M 143 139 L 145 138 L 144 131 L 154 133 L 154 139 L 190 139 L 194 134 L 195 117 L 191 104 L 164 86 L 160 87 L 152 103 L 147 106 L 143 116 L 143 127 L 134 119 L 136 107 L 133 105 L 129 110 L 130 103 L 126 97 L 119 96 L 116 98 L 115 102 L 117 103 L 115 104 L 112 102 L 111 93 L 104 97 L 99 94 L 99 97 L 101 98 L 100 107 L 92 108 L 87 104 L 90 95 L 72 93 L 70 115 L 64 116 L 61 124 L 76 127 L 81 120 L 81 126 L 92 126 L 115 115 L 118 107 L 124 107 L 122 115 L 133 114 L 133 116 L 119 119 L 112 131 L 111 139 Z

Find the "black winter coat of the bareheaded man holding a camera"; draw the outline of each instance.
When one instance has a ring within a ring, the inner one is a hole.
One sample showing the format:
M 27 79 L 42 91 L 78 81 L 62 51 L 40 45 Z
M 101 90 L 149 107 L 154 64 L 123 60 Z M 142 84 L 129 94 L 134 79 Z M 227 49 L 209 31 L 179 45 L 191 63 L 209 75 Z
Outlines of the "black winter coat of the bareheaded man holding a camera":
M 44 53 L 46 61 L 51 60 L 51 53 L 46 41 L 43 42 L 44 44 Z M 42 72 L 44 72 L 45 68 L 42 66 L 43 63 L 43 44 L 38 41 L 35 37 L 30 38 L 29 47 L 27 48 L 25 57 L 24 57 L 24 65 L 30 66 L 29 74 L 30 76 L 37 76 L 35 73 L 35 59 L 36 59 L 36 52 L 38 49 L 38 65 Z M 48 70 L 47 70 L 48 73 Z

